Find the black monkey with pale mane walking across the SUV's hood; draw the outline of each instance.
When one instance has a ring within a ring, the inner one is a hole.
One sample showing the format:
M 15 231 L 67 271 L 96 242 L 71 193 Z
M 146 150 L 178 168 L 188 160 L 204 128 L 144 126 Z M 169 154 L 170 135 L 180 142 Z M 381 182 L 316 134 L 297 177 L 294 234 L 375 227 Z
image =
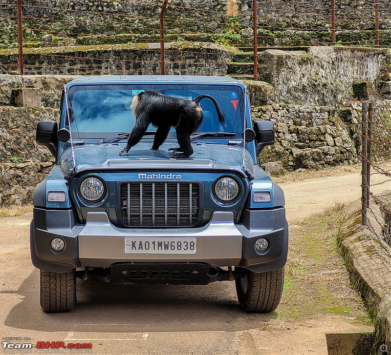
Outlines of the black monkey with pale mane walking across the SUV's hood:
M 169 150 L 182 153 L 173 154 L 171 157 L 190 157 L 194 153 L 190 143 L 190 135 L 198 130 L 204 118 L 199 106 L 201 99 L 213 101 L 216 106 L 218 120 L 225 126 L 224 115 L 217 101 L 210 95 L 200 95 L 194 100 L 185 100 L 165 96 L 156 91 L 147 91 L 134 96 L 131 110 L 136 122 L 130 132 L 128 144 L 118 154 L 128 153 L 130 148 L 140 141 L 149 124 L 152 123 L 157 127 L 157 130 L 151 149 L 159 149 L 166 140 L 170 128 L 175 127 L 179 148 L 170 148 Z

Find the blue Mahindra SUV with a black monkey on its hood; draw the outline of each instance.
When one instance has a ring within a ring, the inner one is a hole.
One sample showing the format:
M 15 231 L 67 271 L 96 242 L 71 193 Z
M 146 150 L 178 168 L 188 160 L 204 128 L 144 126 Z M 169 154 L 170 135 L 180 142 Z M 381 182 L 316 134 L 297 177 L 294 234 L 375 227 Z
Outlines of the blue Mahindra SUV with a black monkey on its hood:
M 141 92 L 195 99 L 204 119 L 194 154 L 171 158 L 175 129 L 151 150 L 150 126 L 128 153 Z M 42 121 L 36 142 L 55 165 L 35 189 L 31 259 L 45 312 L 76 304 L 76 278 L 126 284 L 235 281 L 241 307 L 280 302 L 288 249 L 282 189 L 258 165 L 274 143 L 270 121 L 251 120 L 243 83 L 206 76 L 91 76 L 64 86 L 59 124 Z M 83 281 L 81 281 L 83 282 Z

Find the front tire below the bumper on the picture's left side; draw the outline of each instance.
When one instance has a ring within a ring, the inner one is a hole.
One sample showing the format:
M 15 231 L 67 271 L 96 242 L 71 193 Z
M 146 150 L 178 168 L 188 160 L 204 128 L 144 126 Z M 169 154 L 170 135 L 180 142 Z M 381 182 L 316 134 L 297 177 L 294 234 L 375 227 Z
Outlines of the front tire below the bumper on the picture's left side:
M 76 272 L 52 273 L 41 270 L 40 304 L 45 312 L 72 311 L 76 304 Z

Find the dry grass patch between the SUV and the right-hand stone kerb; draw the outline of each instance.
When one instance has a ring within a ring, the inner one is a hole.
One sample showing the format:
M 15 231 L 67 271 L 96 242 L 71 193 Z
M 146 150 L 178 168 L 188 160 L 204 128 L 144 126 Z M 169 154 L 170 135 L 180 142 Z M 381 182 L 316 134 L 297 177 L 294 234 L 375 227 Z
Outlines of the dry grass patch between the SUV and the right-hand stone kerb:
M 368 308 L 350 285 L 337 233 L 347 206 L 337 203 L 290 226 L 288 261 L 277 318 L 349 316 L 370 324 Z

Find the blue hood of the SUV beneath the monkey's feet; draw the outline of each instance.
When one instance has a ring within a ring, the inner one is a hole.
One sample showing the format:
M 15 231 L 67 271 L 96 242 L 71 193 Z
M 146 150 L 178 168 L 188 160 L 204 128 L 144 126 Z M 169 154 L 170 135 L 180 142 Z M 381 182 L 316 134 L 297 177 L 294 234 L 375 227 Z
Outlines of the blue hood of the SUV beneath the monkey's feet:
M 122 145 L 118 144 L 87 144 L 75 146 L 75 161 L 77 171 L 88 169 L 112 168 L 143 168 L 144 170 L 170 168 L 213 168 L 232 167 L 242 170 L 243 148 L 226 144 L 193 144 L 194 154 L 190 158 L 170 158 L 172 152 L 168 149 L 177 144 L 164 143 L 159 150 L 151 150 L 151 142 L 139 142 L 128 153 L 118 156 Z M 245 151 L 245 164 L 248 173 L 255 174 L 254 163 L 250 153 Z M 60 158 L 60 167 L 64 174 L 73 169 L 71 148 L 65 149 Z

